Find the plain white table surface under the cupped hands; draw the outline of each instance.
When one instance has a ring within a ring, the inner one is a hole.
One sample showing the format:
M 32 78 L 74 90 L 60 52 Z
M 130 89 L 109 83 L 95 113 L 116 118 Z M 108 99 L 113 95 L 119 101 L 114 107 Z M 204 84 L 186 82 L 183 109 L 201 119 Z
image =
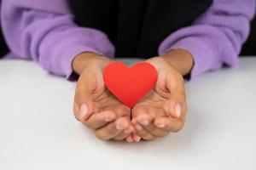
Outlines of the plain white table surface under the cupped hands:
M 134 144 L 74 119 L 74 82 L 22 60 L 1 60 L 0 77 L 0 169 L 256 169 L 256 58 L 186 82 L 183 130 Z

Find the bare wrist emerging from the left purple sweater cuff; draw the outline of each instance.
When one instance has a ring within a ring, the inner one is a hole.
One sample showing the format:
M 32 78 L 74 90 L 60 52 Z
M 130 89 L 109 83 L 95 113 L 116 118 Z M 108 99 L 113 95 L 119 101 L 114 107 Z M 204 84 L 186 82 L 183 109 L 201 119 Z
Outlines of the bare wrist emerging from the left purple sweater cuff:
M 73 71 L 80 75 L 85 68 L 89 66 L 105 66 L 104 63 L 110 63 L 111 59 L 104 57 L 100 54 L 95 54 L 91 52 L 84 52 L 82 54 L 78 54 L 72 62 Z

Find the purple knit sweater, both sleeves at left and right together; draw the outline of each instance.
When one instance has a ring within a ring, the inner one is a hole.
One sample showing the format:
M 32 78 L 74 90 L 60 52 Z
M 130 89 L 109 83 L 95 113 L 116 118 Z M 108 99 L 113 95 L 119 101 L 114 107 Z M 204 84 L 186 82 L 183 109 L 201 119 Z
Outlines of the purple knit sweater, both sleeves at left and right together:
M 188 50 L 195 59 L 191 77 L 236 65 L 254 9 L 255 0 L 213 0 L 192 26 L 166 37 L 159 54 Z M 114 56 L 113 44 L 102 31 L 74 24 L 66 0 L 2 0 L 1 21 L 11 49 L 6 58 L 36 60 L 55 75 L 70 77 L 72 60 L 82 52 Z

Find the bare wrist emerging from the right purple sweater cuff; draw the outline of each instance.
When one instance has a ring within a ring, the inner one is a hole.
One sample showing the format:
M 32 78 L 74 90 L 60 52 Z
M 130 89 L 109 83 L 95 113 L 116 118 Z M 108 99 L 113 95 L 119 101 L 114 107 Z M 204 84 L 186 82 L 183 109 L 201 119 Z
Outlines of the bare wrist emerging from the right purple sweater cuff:
M 166 62 L 183 76 L 188 75 L 194 66 L 192 54 L 185 49 L 174 49 L 161 57 L 166 59 Z

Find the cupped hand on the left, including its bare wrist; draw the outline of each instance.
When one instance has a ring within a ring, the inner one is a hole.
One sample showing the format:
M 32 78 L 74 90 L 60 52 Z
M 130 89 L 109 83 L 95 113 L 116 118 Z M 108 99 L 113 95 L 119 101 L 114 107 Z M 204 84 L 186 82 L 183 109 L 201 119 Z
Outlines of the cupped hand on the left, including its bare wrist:
M 79 54 L 73 59 L 73 71 L 79 74 L 74 116 L 102 140 L 123 140 L 134 131 L 131 109 L 108 91 L 102 72 L 111 59 L 94 53 Z M 128 138 L 129 139 L 129 138 Z

